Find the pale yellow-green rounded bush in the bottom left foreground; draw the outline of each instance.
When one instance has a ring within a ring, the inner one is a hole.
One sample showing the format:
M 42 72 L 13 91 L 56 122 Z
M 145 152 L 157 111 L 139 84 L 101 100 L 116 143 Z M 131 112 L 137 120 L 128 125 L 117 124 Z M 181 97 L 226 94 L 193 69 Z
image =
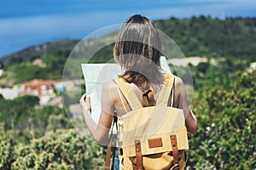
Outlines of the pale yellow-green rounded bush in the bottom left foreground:
M 102 146 L 75 130 L 57 130 L 15 150 L 12 169 L 94 169 L 104 165 Z

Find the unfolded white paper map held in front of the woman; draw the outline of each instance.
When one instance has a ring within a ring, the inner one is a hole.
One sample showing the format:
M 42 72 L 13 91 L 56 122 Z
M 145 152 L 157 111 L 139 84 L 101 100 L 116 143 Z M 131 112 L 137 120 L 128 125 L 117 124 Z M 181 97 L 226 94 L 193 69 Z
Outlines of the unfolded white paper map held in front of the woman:
M 160 65 L 164 72 L 170 73 L 166 57 L 160 57 Z M 120 75 L 121 68 L 119 64 L 81 64 L 84 74 L 86 94 L 90 95 L 91 116 L 94 122 L 98 122 L 102 111 L 102 87 L 105 82 L 111 81 L 117 75 Z

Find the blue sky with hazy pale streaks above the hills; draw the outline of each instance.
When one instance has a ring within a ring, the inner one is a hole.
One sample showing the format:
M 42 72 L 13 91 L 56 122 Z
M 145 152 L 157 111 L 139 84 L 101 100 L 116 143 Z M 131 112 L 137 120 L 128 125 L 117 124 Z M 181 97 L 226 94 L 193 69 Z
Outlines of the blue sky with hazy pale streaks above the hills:
M 256 17 L 256 0 L 1 0 L 0 57 L 64 38 L 82 39 L 132 14 L 150 20 Z

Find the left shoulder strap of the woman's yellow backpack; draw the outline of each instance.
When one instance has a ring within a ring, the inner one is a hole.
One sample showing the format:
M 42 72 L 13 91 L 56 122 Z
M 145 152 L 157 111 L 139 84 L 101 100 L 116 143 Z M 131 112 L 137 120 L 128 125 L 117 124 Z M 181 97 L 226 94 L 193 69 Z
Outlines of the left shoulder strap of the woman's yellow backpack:
M 137 99 L 137 95 L 133 92 L 128 82 L 125 82 L 125 80 L 121 77 L 114 78 L 113 82 L 115 82 L 118 85 L 120 91 L 122 92 L 122 94 L 124 94 L 125 99 L 131 106 L 131 110 L 134 111 L 143 107 L 143 105 Z

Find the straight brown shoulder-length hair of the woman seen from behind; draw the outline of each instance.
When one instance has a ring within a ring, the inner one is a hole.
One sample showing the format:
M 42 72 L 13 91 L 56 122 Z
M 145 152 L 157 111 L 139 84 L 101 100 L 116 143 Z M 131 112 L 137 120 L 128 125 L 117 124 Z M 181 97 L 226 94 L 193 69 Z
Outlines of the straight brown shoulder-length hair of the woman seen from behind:
M 148 88 L 148 82 L 163 82 L 161 50 L 160 35 L 154 23 L 140 14 L 131 16 L 121 26 L 113 47 L 113 57 L 125 71 L 120 77 L 143 90 Z

